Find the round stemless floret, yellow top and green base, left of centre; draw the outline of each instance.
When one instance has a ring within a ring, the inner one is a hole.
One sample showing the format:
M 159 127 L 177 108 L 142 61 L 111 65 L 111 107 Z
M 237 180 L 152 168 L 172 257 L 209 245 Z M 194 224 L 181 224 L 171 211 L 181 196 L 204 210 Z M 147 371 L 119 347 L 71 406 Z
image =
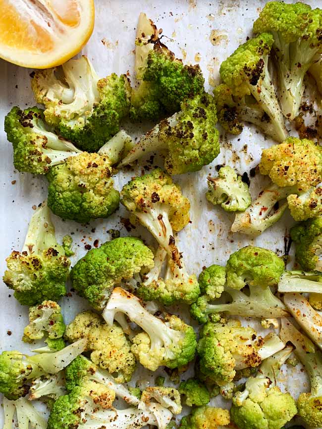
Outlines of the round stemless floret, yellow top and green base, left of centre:
M 63 219 L 86 223 L 106 218 L 119 206 L 107 157 L 83 152 L 50 169 L 48 205 Z

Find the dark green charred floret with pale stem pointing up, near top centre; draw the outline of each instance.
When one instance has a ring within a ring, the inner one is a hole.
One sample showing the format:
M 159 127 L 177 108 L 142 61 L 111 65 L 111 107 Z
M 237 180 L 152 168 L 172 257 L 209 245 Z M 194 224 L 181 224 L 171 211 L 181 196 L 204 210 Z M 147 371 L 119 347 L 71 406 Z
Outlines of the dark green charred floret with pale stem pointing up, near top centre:
M 200 66 L 184 65 L 159 39 L 159 31 L 145 13 L 139 17 L 135 42 L 137 87 L 132 90 L 130 117 L 157 120 L 180 109 L 184 99 L 204 90 Z

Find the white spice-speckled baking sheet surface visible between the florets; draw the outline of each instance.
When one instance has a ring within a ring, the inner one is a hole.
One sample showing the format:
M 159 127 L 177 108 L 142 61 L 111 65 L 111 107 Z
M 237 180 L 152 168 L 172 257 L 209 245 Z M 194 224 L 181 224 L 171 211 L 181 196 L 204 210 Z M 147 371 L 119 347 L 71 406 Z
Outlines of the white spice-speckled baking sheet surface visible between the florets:
M 95 0 L 96 23 L 94 33 L 83 49 L 88 55 L 99 76 L 111 72 L 133 74 L 134 40 L 139 13 L 144 11 L 151 17 L 159 28 L 163 29 L 162 40 L 168 48 L 186 63 L 199 62 L 206 80 L 206 89 L 211 92 L 218 83 L 219 65 L 246 37 L 251 35 L 254 19 L 266 1 L 243 0 L 128 0 L 107 1 Z M 312 7 L 317 7 L 320 1 L 307 1 Z M 4 115 L 13 105 L 21 108 L 34 104 L 30 88 L 29 73 L 31 70 L 17 67 L 0 60 L 0 192 L 1 192 L 1 222 L 0 222 L 0 273 L 5 270 L 5 257 L 12 249 L 20 250 L 29 219 L 35 206 L 46 198 L 47 183 L 44 177 L 34 177 L 21 174 L 13 169 L 12 148 L 7 142 L 3 131 Z M 124 124 L 124 129 L 133 137 L 142 134 L 149 128 L 134 127 Z M 254 240 L 240 234 L 229 232 L 233 215 L 211 205 L 205 197 L 207 190 L 206 177 L 209 173 L 215 175 L 215 166 L 226 164 L 234 166 L 240 174 L 255 167 L 264 147 L 269 147 L 272 141 L 257 133 L 251 126 L 245 126 L 239 136 L 225 136 L 221 133 L 221 153 L 215 161 L 204 167 L 200 172 L 174 177 L 182 187 L 182 192 L 191 201 L 191 220 L 183 231 L 178 234 L 178 242 L 183 250 L 186 265 L 191 272 L 199 273 L 203 266 L 213 263 L 224 264 L 230 253 L 238 248 L 254 244 L 269 248 L 278 254 L 284 252 L 284 236 L 292 226 L 289 214 L 284 214 L 282 220 L 261 237 Z M 157 159 L 157 158 L 156 158 Z M 121 190 L 131 176 L 140 175 L 146 163 L 140 162 L 131 171 L 119 172 L 115 178 L 115 186 Z M 160 164 L 162 167 L 162 163 Z M 257 196 L 258 191 L 266 183 L 259 174 L 251 179 L 251 192 Z M 109 240 L 109 229 L 117 229 L 121 236 L 132 234 L 143 235 L 149 242 L 153 238 L 137 227 L 128 233 L 120 218 L 127 218 L 126 210 L 120 210 L 108 219 L 91 222 L 90 225 L 80 225 L 75 222 L 63 222 L 52 216 L 57 237 L 73 234 L 73 246 L 76 255 L 74 263 L 85 253 L 85 245 L 93 246 L 95 239 L 99 243 Z M 12 291 L 2 282 L 0 287 L 0 348 L 18 349 L 28 352 L 33 346 L 21 341 L 23 328 L 28 322 L 27 307 L 22 307 L 13 298 Z M 83 309 L 88 308 L 85 300 L 74 292 L 61 301 L 65 322 L 70 322 Z M 177 310 L 174 308 L 174 310 Z M 189 319 L 188 319 L 189 320 Z M 257 324 L 258 326 L 258 324 Z M 263 333 L 265 331 L 262 330 Z M 159 374 L 159 373 L 157 373 Z M 137 377 L 153 383 L 156 373 L 139 370 Z M 291 370 L 288 379 L 285 373 L 280 379 L 289 391 L 296 397 L 300 391 L 308 388 L 305 376 L 299 374 L 299 366 Z M 136 378 L 133 379 L 133 383 Z M 184 374 L 184 378 L 187 375 Z M 133 384 L 132 383 L 132 384 Z M 228 403 L 216 398 L 214 403 L 228 407 Z M 2 416 L 1 416 L 2 418 Z

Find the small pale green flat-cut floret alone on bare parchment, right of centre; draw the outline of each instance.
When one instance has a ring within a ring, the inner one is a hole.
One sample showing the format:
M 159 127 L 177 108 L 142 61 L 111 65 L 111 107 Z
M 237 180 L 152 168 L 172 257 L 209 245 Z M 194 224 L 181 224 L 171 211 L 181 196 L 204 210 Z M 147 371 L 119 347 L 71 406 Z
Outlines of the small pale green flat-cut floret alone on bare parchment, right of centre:
M 218 177 L 207 177 L 207 180 L 206 198 L 212 204 L 220 204 L 228 212 L 243 212 L 250 206 L 252 198 L 248 185 L 231 167 L 221 167 Z

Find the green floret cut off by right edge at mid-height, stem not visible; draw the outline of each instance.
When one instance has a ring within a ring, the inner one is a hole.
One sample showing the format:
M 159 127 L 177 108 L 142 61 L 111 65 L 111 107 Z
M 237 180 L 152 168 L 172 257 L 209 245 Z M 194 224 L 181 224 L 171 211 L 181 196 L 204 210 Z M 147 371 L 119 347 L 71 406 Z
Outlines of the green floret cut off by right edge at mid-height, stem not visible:
M 296 245 L 295 257 L 305 271 L 322 271 L 322 216 L 295 225 L 290 236 Z

